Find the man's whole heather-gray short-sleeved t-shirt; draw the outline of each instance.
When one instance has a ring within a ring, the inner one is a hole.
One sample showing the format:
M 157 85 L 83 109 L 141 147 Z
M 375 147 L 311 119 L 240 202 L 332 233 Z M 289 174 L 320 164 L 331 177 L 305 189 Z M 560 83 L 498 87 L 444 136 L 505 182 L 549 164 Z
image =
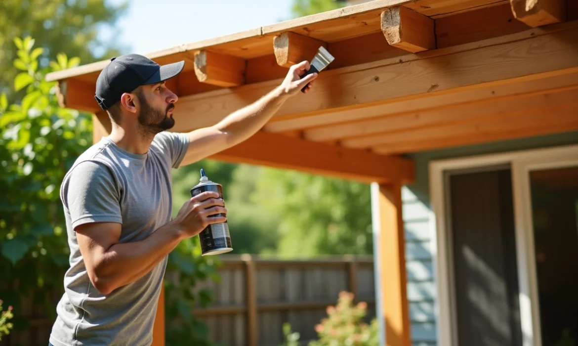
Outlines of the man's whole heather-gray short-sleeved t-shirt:
M 71 250 L 65 293 L 50 335 L 54 346 L 150 345 L 166 260 L 109 295 L 88 279 L 74 228 L 89 222 L 122 224 L 119 242 L 143 240 L 171 220 L 171 167 L 188 145 L 185 134 L 160 132 L 145 154 L 131 154 L 109 138 L 79 156 L 62 182 L 66 233 Z

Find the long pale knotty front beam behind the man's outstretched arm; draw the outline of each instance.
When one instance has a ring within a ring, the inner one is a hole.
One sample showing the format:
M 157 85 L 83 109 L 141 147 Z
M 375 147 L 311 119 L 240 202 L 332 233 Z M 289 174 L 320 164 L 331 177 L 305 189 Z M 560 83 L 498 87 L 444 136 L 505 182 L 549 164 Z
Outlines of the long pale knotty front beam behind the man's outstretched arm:
M 578 23 L 536 28 L 444 49 L 328 70 L 310 93 L 285 102 L 277 119 L 312 116 L 377 103 L 416 100 L 578 71 Z M 281 80 L 179 98 L 176 131 L 212 126 L 258 100 Z

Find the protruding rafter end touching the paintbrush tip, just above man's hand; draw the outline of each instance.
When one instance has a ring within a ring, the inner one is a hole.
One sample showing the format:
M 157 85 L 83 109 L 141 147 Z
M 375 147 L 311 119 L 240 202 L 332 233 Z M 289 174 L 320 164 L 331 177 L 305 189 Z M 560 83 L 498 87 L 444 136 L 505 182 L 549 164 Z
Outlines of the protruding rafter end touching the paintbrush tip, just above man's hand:
M 273 39 L 277 64 L 283 67 L 291 67 L 303 60 L 311 61 L 320 46 L 327 48 L 327 43 L 290 31 L 282 32 Z

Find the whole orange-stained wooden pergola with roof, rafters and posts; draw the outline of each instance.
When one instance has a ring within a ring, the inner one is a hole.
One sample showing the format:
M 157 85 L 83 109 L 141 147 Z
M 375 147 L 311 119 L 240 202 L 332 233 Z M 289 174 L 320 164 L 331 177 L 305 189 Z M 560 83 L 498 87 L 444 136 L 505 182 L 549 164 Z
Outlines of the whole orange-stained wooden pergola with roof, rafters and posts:
M 172 131 L 184 132 L 257 100 L 321 45 L 335 61 L 311 92 L 213 159 L 379 184 L 377 313 L 387 345 L 410 345 L 401 186 L 414 165 L 403 155 L 578 130 L 578 1 L 376 0 L 147 56 L 186 61 L 167 83 L 179 95 Z M 110 131 L 94 99 L 108 62 L 47 76 L 63 104 L 95 113 L 94 141 Z M 162 295 L 159 306 L 157 346 Z

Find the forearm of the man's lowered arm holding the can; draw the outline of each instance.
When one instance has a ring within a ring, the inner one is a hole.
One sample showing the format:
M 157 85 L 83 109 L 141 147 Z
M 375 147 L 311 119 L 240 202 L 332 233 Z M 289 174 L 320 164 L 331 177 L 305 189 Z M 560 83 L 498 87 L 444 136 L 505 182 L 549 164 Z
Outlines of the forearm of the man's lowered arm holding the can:
M 181 230 L 169 222 L 137 242 L 117 243 L 102 253 L 95 266 L 97 289 L 109 293 L 149 273 L 161 259 L 179 245 Z

